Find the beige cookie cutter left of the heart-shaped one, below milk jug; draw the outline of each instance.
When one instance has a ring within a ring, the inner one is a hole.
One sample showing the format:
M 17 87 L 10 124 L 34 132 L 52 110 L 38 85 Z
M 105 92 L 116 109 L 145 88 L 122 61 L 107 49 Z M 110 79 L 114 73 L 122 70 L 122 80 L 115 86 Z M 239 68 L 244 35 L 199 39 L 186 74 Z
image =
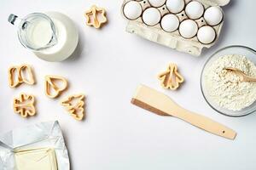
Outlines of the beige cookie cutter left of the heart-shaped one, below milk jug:
M 24 64 L 11 66 L 8 74 L 10 88 L 17 88 L 23 82 L 30 85 L 35 83 L 32 67 L 30 65 Z

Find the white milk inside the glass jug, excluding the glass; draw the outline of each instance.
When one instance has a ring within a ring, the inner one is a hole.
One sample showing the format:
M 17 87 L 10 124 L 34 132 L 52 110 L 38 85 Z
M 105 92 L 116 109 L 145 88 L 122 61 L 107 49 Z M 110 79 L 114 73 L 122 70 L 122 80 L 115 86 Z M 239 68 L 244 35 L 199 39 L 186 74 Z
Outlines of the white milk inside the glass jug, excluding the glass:
M 74 26 L 73 21 L 70 20 L 65 14 L 57 12 L 45 13 L 53 21 L 55 25 L 55 37 L 52 36 L 50 25 L 39 22 L 34 26 L 31 39 L 34 44 L 40 46 L 45 45 L 53 38 L 54 45 L 49 48 L 44 48 L 39 51 L 34 51 L 40 59 L 47 61 L 61 61 L 67 59 L 78 45 L 79 32 Z M 50 30 L 49 30 L 50 28 Z M 42 46 L 41 46 L 42 47 Z

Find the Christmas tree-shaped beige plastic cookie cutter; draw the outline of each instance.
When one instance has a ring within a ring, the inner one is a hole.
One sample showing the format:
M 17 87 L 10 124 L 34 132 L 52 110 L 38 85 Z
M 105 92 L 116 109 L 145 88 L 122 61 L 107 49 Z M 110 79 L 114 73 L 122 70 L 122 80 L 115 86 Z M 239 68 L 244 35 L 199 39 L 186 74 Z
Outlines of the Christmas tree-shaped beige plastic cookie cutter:
M 61 100 L 61 105 L 78 121 L 84 118 L 84 94 L 73 94 Z

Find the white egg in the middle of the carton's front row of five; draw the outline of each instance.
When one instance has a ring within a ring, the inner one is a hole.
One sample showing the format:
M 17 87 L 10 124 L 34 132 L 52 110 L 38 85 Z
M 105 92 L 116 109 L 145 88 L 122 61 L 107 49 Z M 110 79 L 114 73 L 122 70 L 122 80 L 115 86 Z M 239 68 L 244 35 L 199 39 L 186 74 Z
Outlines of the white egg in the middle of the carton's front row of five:
M 179 20 L 175 14 L 166 14 L 161 20 L 161 27 L 164 31 L 176 31 L 179 25 Z

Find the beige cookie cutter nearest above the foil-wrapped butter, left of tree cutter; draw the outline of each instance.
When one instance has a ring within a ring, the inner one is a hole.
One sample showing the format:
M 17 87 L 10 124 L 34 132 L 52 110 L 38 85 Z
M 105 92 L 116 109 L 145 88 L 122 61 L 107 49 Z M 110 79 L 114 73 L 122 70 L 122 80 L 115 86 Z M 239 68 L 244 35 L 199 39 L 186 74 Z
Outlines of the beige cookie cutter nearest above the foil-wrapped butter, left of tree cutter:
M 35 98 L 31 94 L 20 94 L 19 98 L 14 99 L 14 111 L 20 116 L 34 116 L 36 114 Z

